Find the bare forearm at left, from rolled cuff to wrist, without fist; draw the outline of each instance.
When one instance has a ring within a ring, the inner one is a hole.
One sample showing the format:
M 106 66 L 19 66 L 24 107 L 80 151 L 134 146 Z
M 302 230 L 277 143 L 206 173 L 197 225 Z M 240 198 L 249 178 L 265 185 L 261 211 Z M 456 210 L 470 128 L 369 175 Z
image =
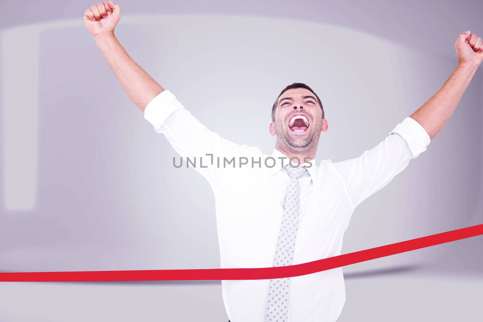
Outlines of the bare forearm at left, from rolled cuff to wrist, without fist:
M 114 33 L 98 34 L 94 40 L 129 99 L 144 112 L 146 105 L 164 88 L 136 64 Z

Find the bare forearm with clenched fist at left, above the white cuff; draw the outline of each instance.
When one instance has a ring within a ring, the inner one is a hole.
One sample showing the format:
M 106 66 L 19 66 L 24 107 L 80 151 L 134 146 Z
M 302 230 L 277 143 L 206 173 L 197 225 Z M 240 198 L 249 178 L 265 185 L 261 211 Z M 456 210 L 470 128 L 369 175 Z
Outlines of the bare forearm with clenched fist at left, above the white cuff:
M 149 74 L 126 53 L 114 36 L 114 28 L 121 18 L 121 8 L 113 1 L 98 2 L 85 10 L 84 23 L 100 52 L 129 99 L 142 112 L 148 103 L 164 91 Z

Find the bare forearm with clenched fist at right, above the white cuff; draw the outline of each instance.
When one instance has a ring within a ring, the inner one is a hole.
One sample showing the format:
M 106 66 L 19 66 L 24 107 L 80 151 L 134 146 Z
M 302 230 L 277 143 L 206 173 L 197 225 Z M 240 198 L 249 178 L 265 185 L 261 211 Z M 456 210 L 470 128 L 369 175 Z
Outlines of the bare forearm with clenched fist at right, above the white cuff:
M 411 114 L 411 118 L 424 127 L 431 140 L 448 122 L 483 59 L 482 38 L 470 31 L 458 36 L 455 48 L 458 66 L 441 89 Z

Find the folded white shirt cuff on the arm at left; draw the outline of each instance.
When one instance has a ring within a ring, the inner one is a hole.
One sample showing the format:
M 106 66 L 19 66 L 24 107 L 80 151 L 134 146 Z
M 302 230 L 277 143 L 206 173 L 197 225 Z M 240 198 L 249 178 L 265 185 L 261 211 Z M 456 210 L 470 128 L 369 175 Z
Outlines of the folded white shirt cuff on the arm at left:
M 184 108 L 174 94 L 165 89 L 146 105 L 144 119 L 159 129 L 172 112 Z

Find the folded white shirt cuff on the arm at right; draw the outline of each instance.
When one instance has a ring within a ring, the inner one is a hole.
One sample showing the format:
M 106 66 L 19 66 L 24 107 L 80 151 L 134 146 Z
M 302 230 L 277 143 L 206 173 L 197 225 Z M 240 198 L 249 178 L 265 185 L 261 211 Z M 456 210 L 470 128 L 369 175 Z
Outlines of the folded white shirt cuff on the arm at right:
M 399 123 L 390 134 L 398 133 L 409 145 L 413 156 L 426 151 L 431 139 L 421 124 L 411 117 L 406 117 L 401 123 Z

